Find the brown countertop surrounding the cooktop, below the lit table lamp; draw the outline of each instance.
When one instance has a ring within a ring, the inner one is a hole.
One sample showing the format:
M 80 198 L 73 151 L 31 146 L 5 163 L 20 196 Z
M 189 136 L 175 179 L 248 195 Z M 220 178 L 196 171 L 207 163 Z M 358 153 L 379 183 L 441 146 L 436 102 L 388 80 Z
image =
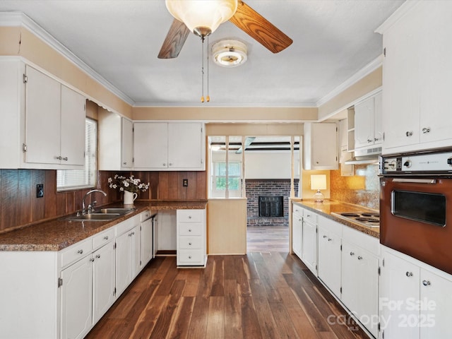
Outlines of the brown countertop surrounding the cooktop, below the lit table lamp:
M 303 199 L 291 199 L 293 203 L 299 204 L 304 208 L 312 210 L 313 212 L 319 213 L 326 218 L 330 218 L 334 221 L 340 222 L 343 225 L 347 225 L 348 227 L 352 227 L 355 230 L 363 232 L 365 234 L 369 234 L 372 237 L 380 238 L 380 229 L 379 227 L 371 228 L 363 225 L 359 225 L 355 222 L 350 222 L 344 220 L 342 218 L 338 218 L 331 213 L 340 213 L 340 212 L 359 212 L 363 210 L 367 210 L 369 212 L 378 213 L 379 210 L 372 210 L 371 208 L 366 208 L 362 206 L 353 205 L 352 203 L 343 203 L 340 201 L 334 200 L 325 200 L 323 203 L 315 203 L 314 200 L 303 200 Z

